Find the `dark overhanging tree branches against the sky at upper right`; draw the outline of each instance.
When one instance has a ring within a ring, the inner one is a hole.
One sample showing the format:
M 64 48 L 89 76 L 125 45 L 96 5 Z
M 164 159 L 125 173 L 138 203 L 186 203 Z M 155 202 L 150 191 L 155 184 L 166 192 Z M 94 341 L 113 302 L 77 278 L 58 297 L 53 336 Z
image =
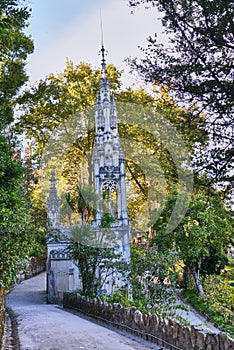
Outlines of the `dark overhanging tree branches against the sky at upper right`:
M 131 66 L 148 82 L 168 86 L 180 103 L 206 113 L 211 142 L 197 154 L 197 167 L 213 182 L 233 182 L 233 3 L 226 0 L 129 0 L 157 7 L 168 44 L 157 34 Z

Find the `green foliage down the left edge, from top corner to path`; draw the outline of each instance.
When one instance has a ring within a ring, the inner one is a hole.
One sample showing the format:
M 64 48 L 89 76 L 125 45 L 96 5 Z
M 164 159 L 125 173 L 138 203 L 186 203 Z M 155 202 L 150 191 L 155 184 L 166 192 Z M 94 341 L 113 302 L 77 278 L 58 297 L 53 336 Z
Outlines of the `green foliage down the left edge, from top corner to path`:
M 11 125 L 17 93 L 26 82 L 26 58 L 33 50 L 23 29 L 29 18 L 18 1 L 0 4 L 0 284 L 10 287 L 30 255 L 40 254 L 44 227 L 30 214 Z

